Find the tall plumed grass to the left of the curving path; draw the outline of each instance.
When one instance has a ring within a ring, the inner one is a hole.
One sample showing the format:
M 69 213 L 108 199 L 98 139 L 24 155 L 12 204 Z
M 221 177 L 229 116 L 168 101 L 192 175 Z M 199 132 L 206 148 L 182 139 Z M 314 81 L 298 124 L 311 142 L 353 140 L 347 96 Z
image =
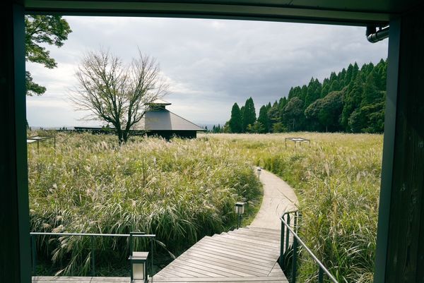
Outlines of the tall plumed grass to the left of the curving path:
M 178 252 L 235 224 L 237 200 L 260 204 L 252 162 L 234 155 L 228 141 L 145 138 L 119 146 L 114 139 L 59 133 L 56 150 L 29 145 L 32 231 L 145 231 Z M 95 249 L 99 264 L 128 255 L 126 239 L 96 239 Z M 44 238 L 38 250 L 61 274 L 88 273 L 88 238 Z

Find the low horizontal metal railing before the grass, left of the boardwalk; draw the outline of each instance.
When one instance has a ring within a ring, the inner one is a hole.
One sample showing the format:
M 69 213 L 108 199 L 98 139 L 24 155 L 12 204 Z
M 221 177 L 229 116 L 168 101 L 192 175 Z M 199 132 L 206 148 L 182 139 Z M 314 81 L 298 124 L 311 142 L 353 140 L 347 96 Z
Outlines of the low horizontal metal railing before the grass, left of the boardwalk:
M 33 256 L 33 275 L 35 275 L 35 269 L 37 267 L 37 247 L 35 245 L 35 236 L 90 236 L 90 261 L 91 261 L 91 276 L 95 276 L 95 256 L 94 256 L 94 237 L 137 237 L 137 238 L 149 238 L 151 239 L 151 276 L 153 283 L 153 239 L 155 234 L 98 234 L 98 233 L 53 233 L 53 232 L 30 232 L 31 245 L 32 245 L 32 256 Z M 131 245 L 131 243 L 130 243 Z

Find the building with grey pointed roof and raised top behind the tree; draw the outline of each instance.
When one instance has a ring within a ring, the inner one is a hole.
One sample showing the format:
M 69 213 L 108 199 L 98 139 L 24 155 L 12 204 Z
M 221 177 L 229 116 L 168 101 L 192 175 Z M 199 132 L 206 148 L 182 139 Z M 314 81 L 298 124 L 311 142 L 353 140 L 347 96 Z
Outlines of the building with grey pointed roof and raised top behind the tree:
M 146 103 L 149 110 L 143 118 L 134 125 L 136 131 L 146 131 L 147 136 L 160 136 L 166 139 L 172 137 L 196 138 L 198 131 L 206 131 L 204 128 L 178 116 L 166 109 L 170 102 L 155 100 Z

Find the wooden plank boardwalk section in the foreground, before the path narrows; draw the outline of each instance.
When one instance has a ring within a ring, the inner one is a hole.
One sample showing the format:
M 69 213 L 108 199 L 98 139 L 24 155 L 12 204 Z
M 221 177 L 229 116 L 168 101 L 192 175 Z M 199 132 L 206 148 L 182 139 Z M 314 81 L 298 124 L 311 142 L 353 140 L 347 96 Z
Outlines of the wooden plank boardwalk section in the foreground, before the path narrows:
M 257 227 L 205 236 L 153 282 L 288 282 L 277 263 L 280 231 Z

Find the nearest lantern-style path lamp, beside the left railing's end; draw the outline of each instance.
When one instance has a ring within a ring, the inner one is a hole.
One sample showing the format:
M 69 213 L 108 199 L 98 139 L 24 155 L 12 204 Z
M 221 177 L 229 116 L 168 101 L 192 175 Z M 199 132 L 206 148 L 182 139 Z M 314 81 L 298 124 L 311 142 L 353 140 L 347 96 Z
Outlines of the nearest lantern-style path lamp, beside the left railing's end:
M 131 283 L 134 282 L 134 280 L 140 280 L 141 282 L 148 282 L 147 279 L 147 258 L 148 258 L 148 252 L 144 251 L 133 251 L 133 235 L 142 235 L 144 233 L 136 233 L 131 232 L 129 233 L 129 263 L 131 264 Z

